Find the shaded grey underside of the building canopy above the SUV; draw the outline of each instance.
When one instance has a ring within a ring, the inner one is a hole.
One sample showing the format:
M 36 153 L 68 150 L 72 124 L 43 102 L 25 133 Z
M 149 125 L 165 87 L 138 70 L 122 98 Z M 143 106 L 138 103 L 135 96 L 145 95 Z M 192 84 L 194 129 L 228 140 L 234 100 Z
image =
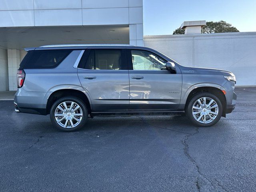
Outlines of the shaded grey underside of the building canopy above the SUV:
M 24 50 L 49 44 L 129 44 L 129 26 L 0 28 L 3 49 Z

